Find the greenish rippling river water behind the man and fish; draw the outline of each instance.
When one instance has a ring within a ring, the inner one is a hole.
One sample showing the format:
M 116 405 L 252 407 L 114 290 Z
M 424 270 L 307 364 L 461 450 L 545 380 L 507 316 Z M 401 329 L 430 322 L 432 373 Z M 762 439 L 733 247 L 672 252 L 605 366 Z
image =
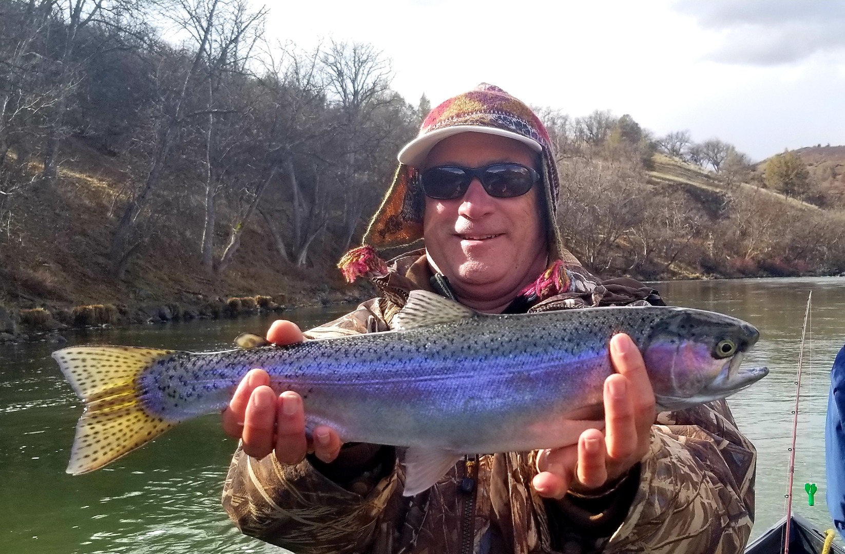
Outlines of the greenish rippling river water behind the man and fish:
M 824 499 L 828 373 L 845 340 L 845 279 L 658 283 L 669 303 L 725 312 L 760 329 L 746 365 L 771 374 L 729 404 L 758 449 L 753 536 L 784 513 L 790 433 L 804 305 L 813 291 L 799 409 L 793 510 L 831 527 Z M 350 307 L 286 312 L 303 328 Z M 68 334 L 68 345 L 144 345 L 214 350 L 243 331 L 263 334 L 272 318 L 217 320 Z M 145 448 L 89 475 L 64 473 L 82 406 L 50 358 L 56 345 L 0 346 L 0 552 L 279 552 L 240 535 L 220 507 L 235 442 L 209 415 L 177 426 Z M 810 508 L 804 482 L 819 492 Z

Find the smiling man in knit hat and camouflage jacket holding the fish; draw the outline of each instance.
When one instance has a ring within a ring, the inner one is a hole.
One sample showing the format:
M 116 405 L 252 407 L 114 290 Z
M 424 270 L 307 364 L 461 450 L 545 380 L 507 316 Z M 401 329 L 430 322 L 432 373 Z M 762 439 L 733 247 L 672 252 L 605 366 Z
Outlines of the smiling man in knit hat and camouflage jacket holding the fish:
M 532 111 L 482 84 L 446 100 L 402 149 L 365 242 L 425 248 L 390 268 L 365 247 L 341 261 L 379 298 L 307 334 L 276 322 L 268 339 L 390 329 L 408 291 L 482 312 L 662 304 L 634 280 L 600 282 L 554 225 L 559 189 L 548 134 Z M 724 401 L 662 414 L 642 357 L 613 337 L 606 430 L 552 451 L 467 456 L 435 486 L 401 496 L 401 449 L 304 431 L 302 399 L 260 370 L 223 415 L 241 448 L 223 493 L 244 533 L 306 552 L 738 552 L 753 517 L 755 451 Z M 277 395 L 278 392 L 281 394 Z M 313 454 L 307 454 L 313 452 Z M 483 453 L 480 453 L 483 454 Z

